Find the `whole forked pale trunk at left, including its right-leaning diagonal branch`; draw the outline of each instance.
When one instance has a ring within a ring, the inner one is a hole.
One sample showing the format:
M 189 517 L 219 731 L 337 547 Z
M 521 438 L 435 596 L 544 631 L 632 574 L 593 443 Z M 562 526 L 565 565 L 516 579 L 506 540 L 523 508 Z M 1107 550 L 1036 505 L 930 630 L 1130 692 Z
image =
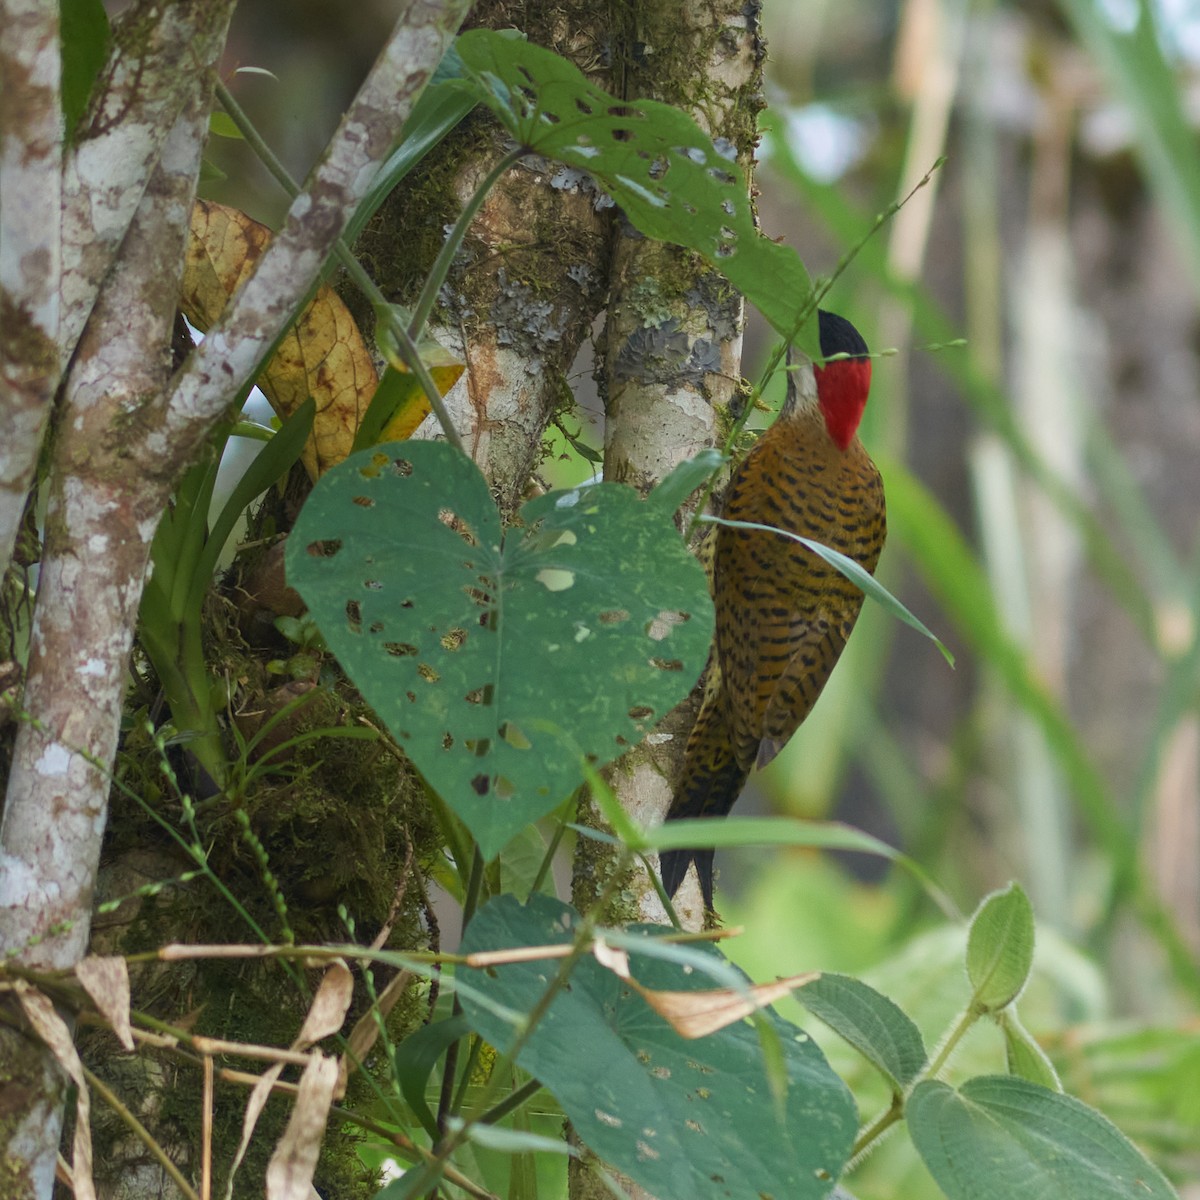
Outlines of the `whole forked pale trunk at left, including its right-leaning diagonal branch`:
M 55 428 L 25 716 L 0 826 L 0 949 L 40 968 L 71 966 L 86 947 L 108 767 L 157 520 L 314 283 L 467 7 L 466 0 L 403 6 L 258 270 L 168 380 L 184 235 L 233 4 L 146 5 L 158 19 L 151 35 L 139 26 L 137 53 L 145 58 L 131 58 L 134 38 L 124 48 L 119 30 L 94 110 L 96 139 L 80 143 L 65 172 L 60 360 L 73 352 L 74 361 Z M 130 20 L 138 16 L 146 13 Z M 47 53 L 56 54 L 56 38 L 48 36 Z M 121 103 L 110 109 L 118 92 Z M 96 150 L 108 138 L 106 151 Z M 4 150 L 7 215 L 7 143 Z M 149 187 L 139 186 L 138 169 Z M 24 180 L 17 178 L 19 186 Z M 47 227 L 53 218 L 47 214 Z M 89 320 L 91 289 L 116 247 Z M 46 257 L 53 264 L 55 254 Z M 43 301 L 46 312 L 52 307 Z M 76 349 L 72 338 L 85 324 Z M 53 372 L 53 356 L 41 361 L 43 374 Z M 13 374 L 19 378 L 6 360 L 6 383 Z M 54 378 L 29 378 L 31 395 L 53 394 Z M 0 1032 L 0 1085 L 20 1090 L 20 1103 L 4 1108 L 0 1127 L 10 1172 L 5 1195 L 48 1196 L 62 1085 L 48 1056 L 10 1025 Z

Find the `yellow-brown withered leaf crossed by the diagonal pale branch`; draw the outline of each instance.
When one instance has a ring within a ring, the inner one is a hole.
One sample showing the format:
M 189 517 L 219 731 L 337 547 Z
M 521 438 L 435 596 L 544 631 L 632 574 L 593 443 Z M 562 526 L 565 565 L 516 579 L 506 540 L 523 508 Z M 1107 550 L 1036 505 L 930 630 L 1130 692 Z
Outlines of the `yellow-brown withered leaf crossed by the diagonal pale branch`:
M 180 307 L 197 329 L 208 330 L 217 320 L 270 240 L 271 230 L 245 212 L 196 202 Z M 313 479 L 350 452 L 378 382 L 354 318 L 328 284 L 317 289 L 258 379 L 281 418 L 313 397 L 317 416 L 302 456 Z

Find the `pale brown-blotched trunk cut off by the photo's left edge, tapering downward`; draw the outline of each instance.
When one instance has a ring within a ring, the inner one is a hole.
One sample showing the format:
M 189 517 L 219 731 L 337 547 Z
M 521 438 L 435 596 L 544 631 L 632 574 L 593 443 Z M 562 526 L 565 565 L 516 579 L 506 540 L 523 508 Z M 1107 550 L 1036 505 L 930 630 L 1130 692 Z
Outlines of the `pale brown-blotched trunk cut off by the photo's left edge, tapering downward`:
M 58 0 L 0 0 L 0 571 L 59 384 Z

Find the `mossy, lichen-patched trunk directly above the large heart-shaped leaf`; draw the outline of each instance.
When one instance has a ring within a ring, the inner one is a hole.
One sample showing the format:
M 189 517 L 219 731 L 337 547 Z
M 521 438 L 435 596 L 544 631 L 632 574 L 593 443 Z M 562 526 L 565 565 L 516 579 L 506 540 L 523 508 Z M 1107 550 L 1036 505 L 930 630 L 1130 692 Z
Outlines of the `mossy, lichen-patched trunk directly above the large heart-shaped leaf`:
M 470 24 L 506 28 L 509 8 L 476 4 Z M 608 88 L 595 66 L 607 36 L 599 18 L 587 0 L 532 5 L 521 14 L 522 32 Z M 494 126 L 468 122 L 397 188 L 358 247 L 385 294 L 415 298 L 438 247 L 414 260 L 413 230 L 452 222 L 508 149 Z M 552 415 L 569 406 L 569 373 L 605 304 L 612 209 L 599 199 L 564 168 L 524 156 L 488 192 L 430 322 L 431 335 L 466 364 L 446 407 L 505 517 L 541 461 Z M 432 418 L 418 433 L 438 434 Z

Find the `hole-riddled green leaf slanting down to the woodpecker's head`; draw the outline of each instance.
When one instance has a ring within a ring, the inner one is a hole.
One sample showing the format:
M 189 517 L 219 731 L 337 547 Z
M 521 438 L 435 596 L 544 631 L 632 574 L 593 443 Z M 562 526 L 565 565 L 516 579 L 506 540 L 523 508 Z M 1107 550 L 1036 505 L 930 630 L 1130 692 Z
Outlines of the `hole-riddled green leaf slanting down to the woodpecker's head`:
M 698 251 L 784 337 L 802 329 L 797 344 L 820 360 L 808 271 L 758 233 L 732 146 L 668 104 L 610 96 L 528 42 L 476 29 L 457 48 L 475 94 L 523 146 L 586 172 L 647 236 Z

